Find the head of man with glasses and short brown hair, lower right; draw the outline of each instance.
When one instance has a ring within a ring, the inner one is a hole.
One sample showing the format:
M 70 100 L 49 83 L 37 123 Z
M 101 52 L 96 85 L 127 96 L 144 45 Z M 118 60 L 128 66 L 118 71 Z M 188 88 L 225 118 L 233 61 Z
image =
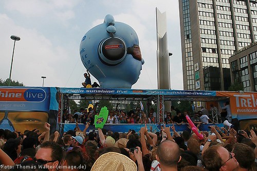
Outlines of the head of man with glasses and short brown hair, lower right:
M 223 146 L 211 146 L 203 156 L 205 168 L 209 171 L 237 171 L 239 164 L 234 156 Z

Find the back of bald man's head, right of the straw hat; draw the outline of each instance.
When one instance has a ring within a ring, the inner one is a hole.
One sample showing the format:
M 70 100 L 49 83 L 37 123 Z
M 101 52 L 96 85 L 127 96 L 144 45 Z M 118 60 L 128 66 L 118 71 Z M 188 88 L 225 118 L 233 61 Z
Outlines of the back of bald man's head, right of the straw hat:
M 162 141 L 157 148 L 156 159 L 161 171 L 177 170 L 177 163 L 181 159 L 179 146 L 171 140 Z

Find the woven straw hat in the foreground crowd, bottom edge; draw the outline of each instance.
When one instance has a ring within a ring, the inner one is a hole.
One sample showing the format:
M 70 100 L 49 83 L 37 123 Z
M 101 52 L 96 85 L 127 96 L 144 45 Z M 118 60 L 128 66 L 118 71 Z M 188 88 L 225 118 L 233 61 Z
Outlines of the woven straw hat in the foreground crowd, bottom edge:
M 130 158 L 115 152 L 101 155 L 91 168 L 91 171 L 137 171 L 136 163 Z

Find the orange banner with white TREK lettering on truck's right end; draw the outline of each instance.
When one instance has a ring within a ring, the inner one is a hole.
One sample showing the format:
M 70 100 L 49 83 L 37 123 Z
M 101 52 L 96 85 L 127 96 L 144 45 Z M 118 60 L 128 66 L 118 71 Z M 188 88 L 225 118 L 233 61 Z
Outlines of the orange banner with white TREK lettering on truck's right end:
M 230 108 L 233 118 L 257 118 L 257 93 L 256 92 L 228 92 L 217 91 L 216 96 L 230 98 Z

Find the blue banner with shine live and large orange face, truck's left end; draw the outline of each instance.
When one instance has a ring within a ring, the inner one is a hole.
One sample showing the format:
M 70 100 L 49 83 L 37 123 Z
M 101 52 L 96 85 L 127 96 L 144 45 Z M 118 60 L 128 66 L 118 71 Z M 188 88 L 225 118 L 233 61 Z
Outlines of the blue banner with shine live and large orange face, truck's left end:
M 0 87 L 0 128 L 11 131 L 44 131 L 50 123 L 56 129 L 58 111 L 56 87 Z M 55 123 L 55 126 L 54 126 Z

